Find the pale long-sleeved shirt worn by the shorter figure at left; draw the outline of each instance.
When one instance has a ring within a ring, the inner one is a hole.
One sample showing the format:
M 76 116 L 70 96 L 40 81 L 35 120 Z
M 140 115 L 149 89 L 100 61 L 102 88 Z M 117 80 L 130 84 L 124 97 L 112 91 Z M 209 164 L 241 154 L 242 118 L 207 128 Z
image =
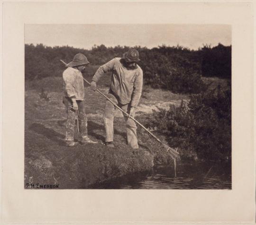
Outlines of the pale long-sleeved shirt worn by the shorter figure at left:
M 64 96 L 75 98 L 76 100 L 84 99 L 84 86 L 81 71 L 68 67 L 63 72 L 63 80 Z

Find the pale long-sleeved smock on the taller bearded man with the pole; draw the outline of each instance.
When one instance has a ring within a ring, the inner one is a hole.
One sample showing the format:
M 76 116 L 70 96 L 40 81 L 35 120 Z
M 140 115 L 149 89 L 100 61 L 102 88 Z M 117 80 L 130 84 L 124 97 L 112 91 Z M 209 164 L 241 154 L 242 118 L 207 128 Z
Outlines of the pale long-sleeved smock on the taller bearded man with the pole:
M 120 62 L 121 58 L 114 58 L 99 67 L 92 81 L 96 83 L 104 73 L 112 71 L 110 90 L 119 97 L 121 104 L 131 103 L 137 107 L 143 85 L 143 71 L 137 65 L 136 69 L 127 69 Z

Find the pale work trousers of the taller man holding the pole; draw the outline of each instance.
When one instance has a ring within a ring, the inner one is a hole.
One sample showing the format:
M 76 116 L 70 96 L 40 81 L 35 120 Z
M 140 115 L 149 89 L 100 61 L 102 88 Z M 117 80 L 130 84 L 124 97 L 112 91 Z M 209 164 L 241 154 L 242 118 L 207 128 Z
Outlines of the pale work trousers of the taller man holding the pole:
M 124 112 L 129 114 L 131 108 L 130 104 L 120 104 L 118 99 L 112 94 L 108 94 L 108 97 L 112 102 L 117 104 Z M 106 142 L 113 141 L 114 138 L 113 121 L 115 116 L 115 110 L 118 109 L 115 109 L 115 106 L 112 103 L 110 103 L 109 100 L 106 100 L 105 112 L 103 114 L 103 121 L 106 130 Z M 126 124 L 127 144 L 132 148 L 138 148 L 136 123 L 132 119 L 128 118 L 124 113 L 123 116 Z

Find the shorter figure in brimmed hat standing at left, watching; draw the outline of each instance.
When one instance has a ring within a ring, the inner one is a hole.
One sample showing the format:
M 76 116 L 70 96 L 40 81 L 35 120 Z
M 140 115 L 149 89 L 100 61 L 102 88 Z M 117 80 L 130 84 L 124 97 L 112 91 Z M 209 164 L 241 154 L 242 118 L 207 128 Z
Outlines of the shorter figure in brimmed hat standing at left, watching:
M 84 86 L 82 71 L 89 64 L 86 56 L 78 53 L 74 56 L 73 61 L 66 65 L 67 69 L 63 72 L 64 79 L 64 97 L 63 103 L 66 107 L 66 136 L 65 141 L 68 147 L 78 144 L 74 142 L 75 119 L 78 117 L 79 130 L 82 143 L 97 143 L 92 141 L 87 134 L 87 117 L 84 106 Z

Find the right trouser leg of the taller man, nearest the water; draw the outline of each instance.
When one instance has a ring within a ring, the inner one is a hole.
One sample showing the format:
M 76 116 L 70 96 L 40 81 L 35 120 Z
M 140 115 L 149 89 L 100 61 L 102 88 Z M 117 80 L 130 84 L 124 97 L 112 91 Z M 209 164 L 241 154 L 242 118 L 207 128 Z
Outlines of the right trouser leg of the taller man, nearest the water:
M 122 110 L 129 114 L 130 112 L 130 104 L 122 105 Z M 132 148 L 138 148 L 138 140 L 137 140 L 137 126 L 135 121 L 128 118 L 124 113 L 124 120 L 126 123 L 126 138 L 127 144 Z

